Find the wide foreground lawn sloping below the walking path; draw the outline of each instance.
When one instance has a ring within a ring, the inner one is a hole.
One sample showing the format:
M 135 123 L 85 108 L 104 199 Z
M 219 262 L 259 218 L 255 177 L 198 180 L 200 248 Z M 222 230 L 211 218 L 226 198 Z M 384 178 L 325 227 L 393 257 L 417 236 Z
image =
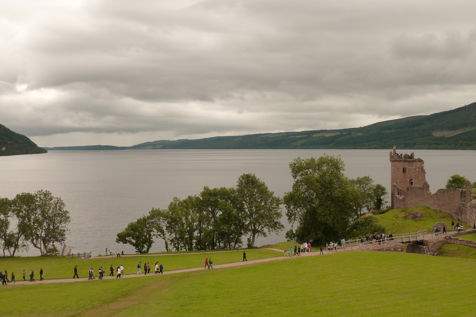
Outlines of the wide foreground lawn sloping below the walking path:
M 476 316 L 476 284 L 462 278 L 475 274 L 474 260 L 343 252 L 141 279 L 4 287 L 0 296 L 8 305 L 0 312 L 11 317 Z

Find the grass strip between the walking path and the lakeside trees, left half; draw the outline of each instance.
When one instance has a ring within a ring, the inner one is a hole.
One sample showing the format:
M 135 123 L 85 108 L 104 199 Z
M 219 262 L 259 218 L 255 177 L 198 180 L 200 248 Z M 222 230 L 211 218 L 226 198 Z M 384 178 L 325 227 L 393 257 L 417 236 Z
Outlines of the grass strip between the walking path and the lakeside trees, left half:
M 280 252 L 273 250 L 247 250 L 247 259 L 265 259 L 273 258 L 282 255 Z M 1 269 L 7 269 L 9 275 L 11 272 L 15 272 L 17 280 L 23 280 L 23 269 L 27 272 L 27 277 L 30 274 L 30 270 L 35 270 L 35 277 L 40 279 L 40 267 L 43 268 L 45 279 L 72 279 L 74 274 L 74 266 L 78 266 L 79 277 L 88 277 L 88 269 L 94 269 L 94 275 L 99 276 L 99 267 L 106 271 L 106 275 L 109 275 L 109 267 L 112 264 L 114 268 L 119 265 L 124 266 L 124 272 L 126 274 L 135 274 L 137 264 L 142 261 L 142 264 L 150 262 L 150 271 L 155 268 L 155 262 L 159 261 L 164 265 L 164 271 L 172 271 L 177 269 L 191 269 L 197 268 L 201 265 L 205 265 L 205 259 L 211 257 L 213 264 L 225 264 L 238 262 L 243 259 L 243 252 L 230 251 L 220 253 L 207 253 L 207 254 L 183 254 L 183 255 L 163 255 L 163 256 L 134 256 L 134 257 L 120 257 L 120 258 L 92 258 L 92 259 L 72 259 L 67 257 L 57 256 L 42 256 L 42 257 L 14 257 L 1 259 Z M 144 272 L 144 269 L 142 269 Z M 114 275 L 116 275 L 114 271 Z M 10 276 L 9 276 L 10 279 Z

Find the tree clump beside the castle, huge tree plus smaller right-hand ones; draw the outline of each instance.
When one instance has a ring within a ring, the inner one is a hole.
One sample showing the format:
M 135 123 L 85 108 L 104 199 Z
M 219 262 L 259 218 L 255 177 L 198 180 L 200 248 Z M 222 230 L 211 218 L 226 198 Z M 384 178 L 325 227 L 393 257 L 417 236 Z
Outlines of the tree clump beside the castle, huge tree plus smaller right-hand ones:
M 382 230 L 371 218 L 365 219 L 362 211 L 380 209 L 386 203 L 385 187 L 373 185 L 368 176 L 348 179 L 340 157 L 297 158 L 289 167 L 294 183 L 284 195 L 284 204 L 289 223 L 297 223 L 297 228 L 286 233 L 288 240 L 319 245 L 355 232 Z

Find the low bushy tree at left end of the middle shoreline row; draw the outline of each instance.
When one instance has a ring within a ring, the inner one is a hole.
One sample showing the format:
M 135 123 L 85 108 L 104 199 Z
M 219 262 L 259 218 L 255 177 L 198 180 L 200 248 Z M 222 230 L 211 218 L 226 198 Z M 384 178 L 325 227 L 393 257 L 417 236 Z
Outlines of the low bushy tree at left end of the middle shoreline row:
M 117 234 L 116 242 L 130 244 L 136 248 L 137 253 L 149 253 L 153 240 L 154 227 L 148 216 L 143 216 L 137 221 L 130 222 L 126 229 Z

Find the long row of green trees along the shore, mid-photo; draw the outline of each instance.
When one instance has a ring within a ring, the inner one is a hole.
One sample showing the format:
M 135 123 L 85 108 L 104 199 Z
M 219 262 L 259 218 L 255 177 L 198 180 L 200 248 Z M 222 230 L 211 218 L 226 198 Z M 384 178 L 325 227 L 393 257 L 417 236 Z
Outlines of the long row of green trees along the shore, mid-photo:
M 164 240 L 168 251 L 234 249 L 249 234 L 247 245 L 254 246 L 256 237 L 284 229 L 280 204 L 255 174 L 243 174 L 235 187 L 204 187 L 198 196 L 175 197 L 167 209 L 153 208 L 119 232 L 116 242 L 139 253 L 148 253 L 154 238 Z

